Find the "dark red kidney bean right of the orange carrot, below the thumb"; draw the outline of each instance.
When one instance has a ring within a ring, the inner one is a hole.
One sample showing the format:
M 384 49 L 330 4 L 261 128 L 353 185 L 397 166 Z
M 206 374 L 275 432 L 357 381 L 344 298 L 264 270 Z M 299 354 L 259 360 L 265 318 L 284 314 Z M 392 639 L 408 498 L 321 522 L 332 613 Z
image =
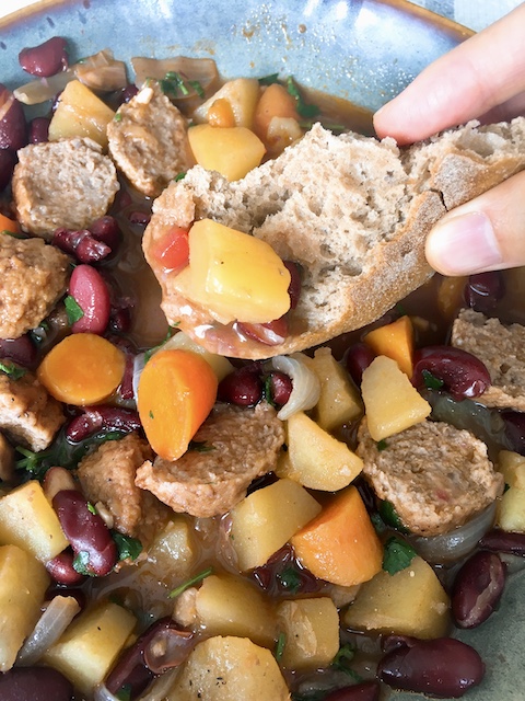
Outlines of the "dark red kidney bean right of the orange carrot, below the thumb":
M 427 346 L 416 352 L 412 383 L 424 386 L 423 370 L 443 381 L 453 399 L 479 397 L 490 386 L 486 366 L 470 353 L 451 346 Z

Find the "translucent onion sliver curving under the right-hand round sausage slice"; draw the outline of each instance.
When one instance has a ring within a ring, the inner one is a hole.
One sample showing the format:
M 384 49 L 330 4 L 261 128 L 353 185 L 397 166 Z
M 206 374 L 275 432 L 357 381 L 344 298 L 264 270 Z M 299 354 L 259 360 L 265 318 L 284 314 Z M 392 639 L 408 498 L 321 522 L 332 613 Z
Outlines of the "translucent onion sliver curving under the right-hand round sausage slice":
M 495 502 L 464 526 L 459 526 L 447 533 L 431 538 L 410 536 L 409 540 L 423 560 L 430 563 L 440 564 L 451 560 L 458 560 L 476 548 L 479 539 L 492 527 L 494 516 Z

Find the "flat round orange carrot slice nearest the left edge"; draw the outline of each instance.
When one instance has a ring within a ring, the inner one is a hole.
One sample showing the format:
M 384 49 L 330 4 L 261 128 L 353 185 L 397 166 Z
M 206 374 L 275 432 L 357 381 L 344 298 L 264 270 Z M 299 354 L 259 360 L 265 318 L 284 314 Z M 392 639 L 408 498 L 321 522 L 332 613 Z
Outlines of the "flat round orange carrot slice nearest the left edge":
M 84 406 L 113 394 L 125 365 L 124 353 L 109 341 L 93 333 L 75 333 L 49 350 L 37 377 L 55 399 Z

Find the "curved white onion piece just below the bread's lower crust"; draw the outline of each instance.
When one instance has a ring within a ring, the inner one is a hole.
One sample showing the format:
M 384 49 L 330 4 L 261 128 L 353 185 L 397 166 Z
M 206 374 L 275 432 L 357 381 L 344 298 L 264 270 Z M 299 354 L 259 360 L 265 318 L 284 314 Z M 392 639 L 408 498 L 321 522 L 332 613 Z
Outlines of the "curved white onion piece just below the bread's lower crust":
M 290 356 L 277 355 L 270 360 L 270 366 L 275 370 L 284 372 L 292 380 L 290 399 L 277 414 L 281 421 L 290 418 L 296 412 L 312 409 L 319 401 L 319 378 L 307 366 L 308 359 L 303 353 L 294 353 Z

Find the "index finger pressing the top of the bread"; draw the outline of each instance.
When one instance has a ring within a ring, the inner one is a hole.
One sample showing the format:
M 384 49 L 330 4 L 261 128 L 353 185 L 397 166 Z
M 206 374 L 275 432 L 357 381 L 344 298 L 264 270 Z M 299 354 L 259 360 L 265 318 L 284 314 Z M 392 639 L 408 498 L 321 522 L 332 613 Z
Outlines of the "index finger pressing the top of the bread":
M 525 90 L 525 3 L 425 68 L 374 116 L 377 136 L 424 139 Z

